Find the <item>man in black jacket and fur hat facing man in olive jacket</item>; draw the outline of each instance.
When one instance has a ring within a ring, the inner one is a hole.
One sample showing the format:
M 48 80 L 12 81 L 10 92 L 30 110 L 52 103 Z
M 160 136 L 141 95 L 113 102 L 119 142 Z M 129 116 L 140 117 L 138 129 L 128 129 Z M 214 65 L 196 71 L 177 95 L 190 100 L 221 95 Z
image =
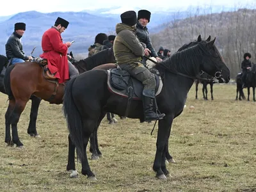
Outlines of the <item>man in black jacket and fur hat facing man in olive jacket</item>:
M 136 24 L 136 36 L 143 42 L 147 48 L 144 50 L 145 56 L 152 56 L 156 58 L 156 60 L 162 61 L 161 58 L 158 57 L 154 47 L 152 46 L 150 36 L 148 33 L 147 24 L 150 22 L 150 15 L 151 13 L 148 10 L 140 10 L 138 12 L 138 22 Z M 146 64 L 146 59 L 143 58 L 143 65 Z

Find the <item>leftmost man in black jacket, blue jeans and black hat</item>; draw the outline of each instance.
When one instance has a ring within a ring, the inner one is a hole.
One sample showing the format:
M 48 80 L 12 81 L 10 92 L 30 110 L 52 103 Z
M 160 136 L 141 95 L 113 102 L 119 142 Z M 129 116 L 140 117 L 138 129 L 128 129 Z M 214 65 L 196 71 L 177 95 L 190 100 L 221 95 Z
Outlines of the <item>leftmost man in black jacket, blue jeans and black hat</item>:
M 14 32 L 8 38 L 5 44 L 5 51 L 8 60 L 12 60 L 11 64 L 23 63 L 25 60 L 32 60 L 31 56 L 26 56 L 23 51 L 22 42 L 20 38 L 26 31 L 26 24 L 24 22 L 17 22 L 14 25 Z

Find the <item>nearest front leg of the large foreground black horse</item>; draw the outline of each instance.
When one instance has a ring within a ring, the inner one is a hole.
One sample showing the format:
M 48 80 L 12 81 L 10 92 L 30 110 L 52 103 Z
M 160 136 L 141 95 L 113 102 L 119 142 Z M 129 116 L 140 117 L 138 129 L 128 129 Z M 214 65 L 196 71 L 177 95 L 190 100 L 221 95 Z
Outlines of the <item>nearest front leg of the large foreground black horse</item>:
M 166 175 L 169 174 L 166 169 L 165 155 L 167 151 L 167 141 L 170 136 L 171 126 L 173 122 L 173 116 L 165 116 L 158 123 L 157 142 L 156 142 L 156 156 L 154 160 L 153 170 L 156 172 L 158 179 L 166 179 Z M 165 175 L 166 174 L 166 175 Z

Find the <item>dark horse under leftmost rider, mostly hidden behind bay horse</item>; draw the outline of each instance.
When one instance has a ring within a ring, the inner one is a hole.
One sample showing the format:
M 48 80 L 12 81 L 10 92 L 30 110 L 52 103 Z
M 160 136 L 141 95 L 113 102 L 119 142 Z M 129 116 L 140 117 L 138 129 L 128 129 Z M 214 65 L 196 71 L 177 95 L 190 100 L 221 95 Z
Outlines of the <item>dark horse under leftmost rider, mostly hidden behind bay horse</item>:
M 4 84 L 3 84 L 3 79 L 4 79 L 4 74 L 6 71 L 6 65 L 8 64 L 8 59 L 6 56 L 0 55 L 0 92 L 6 94 L 4 90 Z M 30 111 L 30 120 L 29 120 L 29 125 L 28 125 L 28 134 L 33 137 L 40 137 L 38 132 L 36 131 L 36 119 L 38 115 L 38 108 L 41 102 L 41 99 L 35 96 L 31 96 L 31 111 Z

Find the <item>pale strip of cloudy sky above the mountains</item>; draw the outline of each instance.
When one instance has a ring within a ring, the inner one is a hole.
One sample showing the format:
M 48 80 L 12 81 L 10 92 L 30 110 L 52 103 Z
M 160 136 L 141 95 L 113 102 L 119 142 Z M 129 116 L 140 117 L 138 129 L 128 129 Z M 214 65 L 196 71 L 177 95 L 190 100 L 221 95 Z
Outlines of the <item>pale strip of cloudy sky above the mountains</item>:
M 38 4 L 36 4 L 36 2 Z M 140 3 L 141 2 L 141 3 Z M 145 4 L 145 5 L 144 5 Z M 3 5 L 3 4 L 2 4 Z M 97 8 L 110 8 L 113 6 L 122 6 L 123 8 L 118 10 L 122 13 L 126 10 L 132 10 L 132 8 L 145 8 L 154 12 L 154 9 L 182 9 L 188 6 L 198 5 L 223 5 L 223 6 L 246 6 L 252 8 L 255 6 L 255 0 L 14 0 L 5 1 L 4 9 L 1 9 L 0 16 L 13 15 L 19 12 L 38 11 L 42 13 L 49 12 L 80 12 L 82 10 L 95 10 Z

